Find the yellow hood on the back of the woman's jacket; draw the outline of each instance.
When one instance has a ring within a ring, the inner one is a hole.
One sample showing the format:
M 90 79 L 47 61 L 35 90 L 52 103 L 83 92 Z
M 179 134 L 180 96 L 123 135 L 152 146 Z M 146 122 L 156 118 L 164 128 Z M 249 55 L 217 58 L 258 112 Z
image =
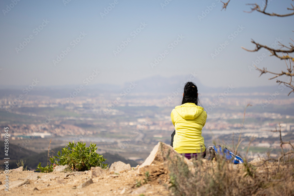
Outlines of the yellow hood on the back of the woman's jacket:
M 182 118 L 192 120 L 197 118 L 204 109 L 195 103 L 184 103 L 176 106 L 175 110 Z

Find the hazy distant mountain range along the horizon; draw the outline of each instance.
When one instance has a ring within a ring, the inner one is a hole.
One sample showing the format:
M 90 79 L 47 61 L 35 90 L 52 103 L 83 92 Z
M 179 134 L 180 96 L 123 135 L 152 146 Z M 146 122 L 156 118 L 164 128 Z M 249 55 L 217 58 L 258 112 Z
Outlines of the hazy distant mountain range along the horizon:
M 183 91 L 184 84 L 187 81 L 194 82 L 198 87 L 199 93 L 223 93 L 228 88 L 212 88 L 205 86 L 198 80 L 197 76 L 193 76 L 192 73 L 191 75 L 172 76 L 168 78 L 159 75 L 152 76 L 131 83 L 124 83 L 123 85 L 95 84 L 84 86 L 79 96 L 97 96 L 101 93 L 121 93 L 124 90 L 131 90 L 132 93 L 150 93 L 153 95 L 154 93 L 172 93 L 173 91 L 177 91 L 178 88 L 181 88 L 181 91 Z M 24 94 L 23 89 L 26 87 L 27 86 L 0 86 L 0 98 Z M 79 88 L 79 86 L 36 86 L 28 94 L 65 98 L 68 97 L 70 93 L 73 93 L 75 88 Z M 274 93 L 275 91 L 280 91 L 278 89 L 278 84 L 275 86 L 241 87 L 234 88 L 233 90 L 234 93 Z

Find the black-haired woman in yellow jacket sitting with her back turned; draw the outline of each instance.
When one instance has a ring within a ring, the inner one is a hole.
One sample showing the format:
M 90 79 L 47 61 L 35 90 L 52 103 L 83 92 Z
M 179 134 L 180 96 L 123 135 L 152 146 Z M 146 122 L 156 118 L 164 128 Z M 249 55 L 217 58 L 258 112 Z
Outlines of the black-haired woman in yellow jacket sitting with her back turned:
M 173 148 L 188 159 L 206 156 L 206 147 L 201 133 L 207 114 L 202 107 L 198 106 L 198 102 L 197 86 L 193 82 L 187 82 L 184 87 L 182 105 L 176 106 L 171 111 L 171 121 L 175 126 L 175 135 L 172 138 Z

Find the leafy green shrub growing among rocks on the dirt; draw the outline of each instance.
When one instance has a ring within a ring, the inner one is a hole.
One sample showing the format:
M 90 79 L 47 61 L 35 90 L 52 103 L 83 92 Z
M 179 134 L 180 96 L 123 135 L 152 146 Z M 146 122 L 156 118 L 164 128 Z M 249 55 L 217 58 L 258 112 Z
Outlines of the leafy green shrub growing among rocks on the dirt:
M 101 167 L 107 169 L 108 165 L 103 164 L 106 160 L 103 155 L 96 153 L 96 144 L 90 144 L 86 147 L 86 143 L 78 142 L 77 144 L 69 142 L 69 144 L 62 148 L 61 153 L 58 151 L 58 156 L 50 158 L 50 164 L 46 167 L 41 167 L 41 163 L 38 165 L 38 169 L 41 172 L 52 172 L 56 165 L 69 165 L 73 171 L 85 171 L 90 170 L 91 167 Z

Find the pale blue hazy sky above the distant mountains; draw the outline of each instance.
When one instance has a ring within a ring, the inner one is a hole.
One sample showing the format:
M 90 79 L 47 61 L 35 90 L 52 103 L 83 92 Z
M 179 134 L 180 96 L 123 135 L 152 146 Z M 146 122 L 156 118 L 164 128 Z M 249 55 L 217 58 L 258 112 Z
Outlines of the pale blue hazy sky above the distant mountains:
M 154 75 L 168 77 L 195 72 L 203 84 L 211 87 L 275 85 L 275 81 L 268 81 L 271 75 L 258 78 L 259 73 L 250 72 L 248 66 L 262 53 L 266 57 L 259 67 L 279 71 L 285 63 L 269 57 L 265 50 L 250 53 L 241 46 L 253 49 L 251 38 L 271 45 L 276 38 L 289 43 L 294 37 L 293 16 L 278 18 L 243 12 L 250 10 L 246 3 L 260 4 L 260 0 L 232 0 L 226 11 L 221 11 L 221 3 L 215 0 L 173 0 L 163 8 L 164 0 L 118 0 L 102 19 L 100 12 L 113 2 L 71 0 L 65 6 L 62 0 L 21 0 L 5 12 L 11 0 L 1 1 L 0 85 L 28 85 L 36 78 L 39 86 L 80 85 L 93 69 L 100 74 L 91 84 L 121 84 Z M 268 12 L 289 13 L 286 8 L 290 3 L 293 2 L 272 0 Z M 207 6 L 212 4 L 215 7 L 208 12 Z M 200 21 L 198 15 L 202 11 L 208 14 Z M 34 29 L 42 23 L 43 29 L 36 34 Z M 131 32 L 141 23 L 146 26 L 141 26 L 141 32 L 134 37 Z M 245 28 L 239 29 L 235 38 L 229 38 L 238 26 Z M 86 35 L 81 36 L 78 44 L 71 44 L 80 32 Z M 17 53 L 16 47 L 30 35 L 34 38 Z M 169 44 L 178 35 L 184 38 L 171 50 Z M 128 38 L 131 42 L 115 56 L 113 50 Z M 211 53 L 225 41 L 228 45 L 212 59 Z M 70 51 L 54 66 L 53 60 L 67 47 Z M 150 63 L 165 50 L 168 54 L 152 68 Z

